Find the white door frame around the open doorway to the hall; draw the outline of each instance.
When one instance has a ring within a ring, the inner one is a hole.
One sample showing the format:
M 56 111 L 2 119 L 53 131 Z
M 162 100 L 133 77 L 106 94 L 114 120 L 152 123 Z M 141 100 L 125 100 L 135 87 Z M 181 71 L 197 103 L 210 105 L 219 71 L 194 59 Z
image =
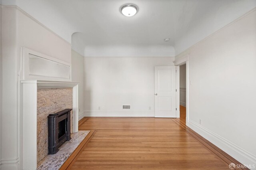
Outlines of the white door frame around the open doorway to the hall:
M 186 64 L 186 125 L 188 125 L 189 121 L 189 55 L 185 55 L 179 59 L 175 59 L 173 61 L 176 66 L 176 117 L 180 117 L 180 65 Z

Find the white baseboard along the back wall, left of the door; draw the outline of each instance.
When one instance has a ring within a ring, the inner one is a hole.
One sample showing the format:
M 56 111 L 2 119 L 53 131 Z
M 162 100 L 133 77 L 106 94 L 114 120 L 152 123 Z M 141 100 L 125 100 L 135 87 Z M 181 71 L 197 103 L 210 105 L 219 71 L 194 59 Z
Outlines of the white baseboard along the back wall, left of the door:
M 86 117 L 155 117 L 154 112 L 98 112 L 85 111 Z

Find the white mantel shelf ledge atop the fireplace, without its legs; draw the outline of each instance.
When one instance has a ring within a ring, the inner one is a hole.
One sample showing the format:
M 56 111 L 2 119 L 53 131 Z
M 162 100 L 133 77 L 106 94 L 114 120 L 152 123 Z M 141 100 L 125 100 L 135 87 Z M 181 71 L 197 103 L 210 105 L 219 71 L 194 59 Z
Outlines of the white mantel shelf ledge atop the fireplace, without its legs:
M 74 87 L 80 82 L 74 81 L 42 81 L 42 80 L 21 80 L 21 83 L 36 83 L 38 89 Z

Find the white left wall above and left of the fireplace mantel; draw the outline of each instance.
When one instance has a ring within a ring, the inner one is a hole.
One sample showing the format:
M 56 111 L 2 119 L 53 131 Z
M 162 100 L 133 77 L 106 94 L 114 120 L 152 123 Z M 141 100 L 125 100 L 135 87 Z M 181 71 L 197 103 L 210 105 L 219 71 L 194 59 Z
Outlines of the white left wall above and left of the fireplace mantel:
M 18 72 L 20 47 L 71 63 L 71 45 L 42 26 L 15 6 L 3 9 L 2 62 L 3 64 L 3 115 L 2 115 L 2 167 L 18 169 L 22 166 L 22 147 L 19 138 Z M 20 135 L 22 137 L 22 134 Z M 22 143 L 21 143 L 22 144 Z

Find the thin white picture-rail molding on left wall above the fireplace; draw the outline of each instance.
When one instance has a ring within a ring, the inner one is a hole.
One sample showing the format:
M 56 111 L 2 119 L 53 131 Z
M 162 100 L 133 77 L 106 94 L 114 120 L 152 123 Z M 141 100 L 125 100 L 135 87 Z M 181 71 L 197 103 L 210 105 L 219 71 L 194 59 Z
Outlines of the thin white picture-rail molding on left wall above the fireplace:
M 24 14 L 25 16 L 27 16 L 28 18 L 30 18 L 31 20 L 33 20 L 34 22 L 36 22 L 37 24 L 39 24 L 40 26 L 44 27 L 46 30 L 52 32 L 55 36 L 57 36 L 58 38 L 60 38 L 61 40 L 63 40 L 64 42 L 68 43 L 69 45 L 71 45 L 70 42 L 68 42 L 67 40 L 65 40 L 64 38 L 62 38 L 61 36 L 59 36 L 56 32 L 50 30 L 48 27 L 46 27 L 44 24 L 42 24 L 41 22 L 39 22 L 38 20 L 36 20 L 34 17 L 32 17 L 30 14 L 26 13 L 24 10 L 22 10 L 20 7 L 16 6 L 16 5 L 1 5 L 2 9 L 5 10 L 18 10 L 20 11 L 22 14 Z

